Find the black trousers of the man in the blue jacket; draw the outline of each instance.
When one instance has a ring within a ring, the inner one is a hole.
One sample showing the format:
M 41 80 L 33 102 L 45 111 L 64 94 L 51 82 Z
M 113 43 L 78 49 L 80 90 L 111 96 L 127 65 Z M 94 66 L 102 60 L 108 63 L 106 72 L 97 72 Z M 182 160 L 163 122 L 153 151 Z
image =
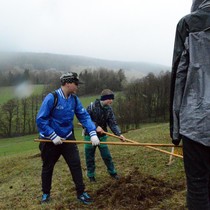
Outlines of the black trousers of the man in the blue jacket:
M 53 169 L 62 155 L 69 167 L 69 170 L 74 181 L 77 196 L 84 192 L 85 185 L 83 183 L 81 162 L 79 151 L 76 144 L 63 143 L 54 145 L 53 143 L 40 143 L 42 165 L 42 191 L 43 193 L 50 193 L 52 184 Z

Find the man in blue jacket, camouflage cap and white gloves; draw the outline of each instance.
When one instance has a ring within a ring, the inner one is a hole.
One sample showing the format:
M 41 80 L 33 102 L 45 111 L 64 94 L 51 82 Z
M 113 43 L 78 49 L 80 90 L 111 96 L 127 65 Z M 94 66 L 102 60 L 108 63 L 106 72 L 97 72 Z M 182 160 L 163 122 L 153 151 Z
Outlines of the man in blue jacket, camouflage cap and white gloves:
M 65 140 L 75 140 L 73 134 L 74 115 L 86 128 L 92 145 L 99 145 L 100 141 L 90 115 L 75 95 L 78 85 L 81 83 L 77 74 L 74 72 L 63 74 L 60 80 L 61 87 L 55 91 L 57 95 L 56 106 L 54 104 L 54 94 L 49 93 L 45 97 L 36 119 L 40 138 L 52 141 L 50 143 L 40 143 L 43 160 L 41 175 L 43 195 L 41 202 L 44 203 L 50 200 L 54 165 L 62 155 L 71 171 L 77 198 L 84 204 L 89 204 L 92 199 L 85 192 L 77 145 L 65 143 Z

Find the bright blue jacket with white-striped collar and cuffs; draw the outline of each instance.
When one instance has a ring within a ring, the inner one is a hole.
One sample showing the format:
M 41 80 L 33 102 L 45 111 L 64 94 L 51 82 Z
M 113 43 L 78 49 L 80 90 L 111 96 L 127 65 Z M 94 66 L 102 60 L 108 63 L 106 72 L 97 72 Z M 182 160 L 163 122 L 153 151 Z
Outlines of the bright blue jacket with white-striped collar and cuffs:
M 37 114 L 36 123 L 40 137 L 53 140 L 58 135 L 67 139 L 72 134 L 74 115 L 90 136 L 96 135 L 96 127 L 79 98 L 70 95 L 66 99 L 61 88 L 57 89 L 56 93 L 58 95 L 56 107 L 53 109 L 54 96 L 49 93 Z

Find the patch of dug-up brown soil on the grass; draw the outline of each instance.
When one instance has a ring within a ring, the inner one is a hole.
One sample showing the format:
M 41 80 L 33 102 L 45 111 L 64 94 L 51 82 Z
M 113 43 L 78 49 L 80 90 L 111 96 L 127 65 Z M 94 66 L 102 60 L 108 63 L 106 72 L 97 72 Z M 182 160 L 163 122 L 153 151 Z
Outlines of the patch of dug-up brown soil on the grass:
M 111 181 L 94 195 L 96 209 L 149 209 L 177 191 L 185 188 L 183 182 L 166 183 L 164 180 L 134 170 L 119 181 Z

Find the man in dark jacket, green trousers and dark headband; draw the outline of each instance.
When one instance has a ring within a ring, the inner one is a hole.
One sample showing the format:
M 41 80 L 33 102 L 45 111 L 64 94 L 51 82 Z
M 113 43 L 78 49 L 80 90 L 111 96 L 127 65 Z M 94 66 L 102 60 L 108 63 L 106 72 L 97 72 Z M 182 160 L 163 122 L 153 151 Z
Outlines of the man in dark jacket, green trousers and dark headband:
M 124 141 L 125 137 L 121 134 L 121 130 L 117 124 L 115 115 L 111 108 L 111 104 L 114 100 L 114 93 L 110 89 L 104 89 L 101 92 L 101 98 L 96 99 L 95 102 L 91 103 L 87 107 L 87 112 L 90 114 L 92 121 L 96 125 L 96 131 L 98 138 L 101 142 L 106 142 L 107 135 L 104 134 L 104 131 L 107 132 L 107 127 L 111 129 L 111 131 L 121 137 L 121 140 Z M 85 140 L 90 141 L 90 136 L 87 132 L 85 132 Z M 107 171 L 111 177 L 118 180 L 119 176 L 114 167 L 114 163 L 112 161 L 112 156 L 110 154 L 109 148 L 106 144 L 101 144 L 97 146 L 92 146 L 90 144 L 85 144 L 85 158 L 87 165 L 87 176 L 89 177 L 91 182 L 95 182 L 95 151 L 96 148 L 99 148 L 101 157 L 107 167 Z

